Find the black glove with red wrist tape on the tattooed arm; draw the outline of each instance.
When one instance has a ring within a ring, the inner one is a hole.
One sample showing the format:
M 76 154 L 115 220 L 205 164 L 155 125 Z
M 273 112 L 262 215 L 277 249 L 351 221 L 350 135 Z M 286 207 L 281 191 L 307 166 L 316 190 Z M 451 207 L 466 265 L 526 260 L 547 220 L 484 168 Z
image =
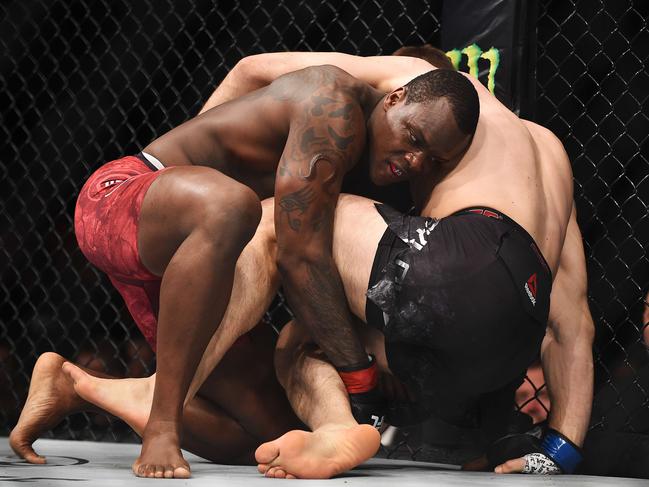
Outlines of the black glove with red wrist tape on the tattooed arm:
M 340 367 L 337 370 L 349 393 L 349 402 L 356 421 L 378 429 L 383 424 L 386 402 L 378 389 L 379 374 L 374 356 L 368 355 L 367 359 L 367 364 Z

